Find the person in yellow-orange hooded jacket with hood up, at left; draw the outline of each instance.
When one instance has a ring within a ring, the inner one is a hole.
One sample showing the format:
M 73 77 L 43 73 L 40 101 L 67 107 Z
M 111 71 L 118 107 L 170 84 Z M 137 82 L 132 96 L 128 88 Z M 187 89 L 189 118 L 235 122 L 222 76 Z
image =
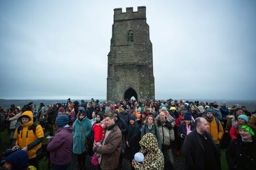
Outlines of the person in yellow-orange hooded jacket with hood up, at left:
M 15 146 L 12 150 L 24 150 L 28 153 L 28 162 L 38 169 L 38 157 L 42 150 L 42 141 L 44 140 L 44 131 L 41 125 L 33 123 L 33 114 L 31 111 L 25 111 L 18 118 L 20 126 L 15 130 Z

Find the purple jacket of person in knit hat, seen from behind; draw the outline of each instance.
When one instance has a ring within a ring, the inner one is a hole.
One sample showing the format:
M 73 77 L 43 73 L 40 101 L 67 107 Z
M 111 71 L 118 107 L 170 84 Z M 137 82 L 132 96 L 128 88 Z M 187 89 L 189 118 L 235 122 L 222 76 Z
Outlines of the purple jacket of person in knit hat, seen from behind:
M 70 164 L 72 160 L 72 144 L 74 127 L 58 128 L 47 150 L 50 151 L 50 161 L 56 165 Z

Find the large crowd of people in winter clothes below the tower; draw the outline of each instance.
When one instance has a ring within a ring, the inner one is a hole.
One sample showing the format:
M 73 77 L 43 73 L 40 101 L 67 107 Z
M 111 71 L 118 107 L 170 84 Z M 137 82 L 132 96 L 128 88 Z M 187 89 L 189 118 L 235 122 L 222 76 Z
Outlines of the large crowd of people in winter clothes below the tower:
M 87 154 L 102 170 L 121 169 L 123 158 L 132 169 L 171 169 L 173 155 L 181 153 L 186 170 L 216 170 L 221 169 L 220 149 L 226 150 L 230 169 L 256 167 L 256 113 L 246 106 L 172 99 L 72 102 L 69 98 L 67 103 L 40 103 L 38 108 L 33 102 L 22 108 L 13 104 L 8 113 L 1 109 L 0 114 L 12 144 L 8 157 L 25 155 L 26 168 L 28 164 L 39 168 L 45 138 L 53 170 L 66 170 L 72 154 L 79 170 L 86 169 Z M 8 157 L 2 160 L 2 168 L 17 167 Z

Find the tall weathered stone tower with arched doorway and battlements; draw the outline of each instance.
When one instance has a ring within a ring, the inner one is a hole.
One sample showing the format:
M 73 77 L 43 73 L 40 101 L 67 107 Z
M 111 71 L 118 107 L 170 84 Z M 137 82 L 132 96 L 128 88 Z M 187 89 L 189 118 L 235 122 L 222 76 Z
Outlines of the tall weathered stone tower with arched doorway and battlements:
M 153 100 L 152 43 L 146 22 L 146 7 L 114 9 L 114 24 L 108 53 L 107 100 Z

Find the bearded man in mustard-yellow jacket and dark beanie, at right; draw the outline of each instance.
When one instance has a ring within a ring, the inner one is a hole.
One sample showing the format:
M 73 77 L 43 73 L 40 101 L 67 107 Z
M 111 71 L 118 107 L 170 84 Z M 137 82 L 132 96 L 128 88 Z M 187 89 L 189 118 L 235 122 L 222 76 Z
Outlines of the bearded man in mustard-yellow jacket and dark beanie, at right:
M 207 121 L 207 124 L 209 126 L 208 132 L 212 135 L 212 139 L 214 143 L 219 146 L 220 145 L 220 139 L 222 135 L 224 134 L 222 125 L 218 119 L 215 119 L 212 109 L 206 110 L 206 117 L 204 117 Z M 218 121 L 218 123 L 217 123 Z

